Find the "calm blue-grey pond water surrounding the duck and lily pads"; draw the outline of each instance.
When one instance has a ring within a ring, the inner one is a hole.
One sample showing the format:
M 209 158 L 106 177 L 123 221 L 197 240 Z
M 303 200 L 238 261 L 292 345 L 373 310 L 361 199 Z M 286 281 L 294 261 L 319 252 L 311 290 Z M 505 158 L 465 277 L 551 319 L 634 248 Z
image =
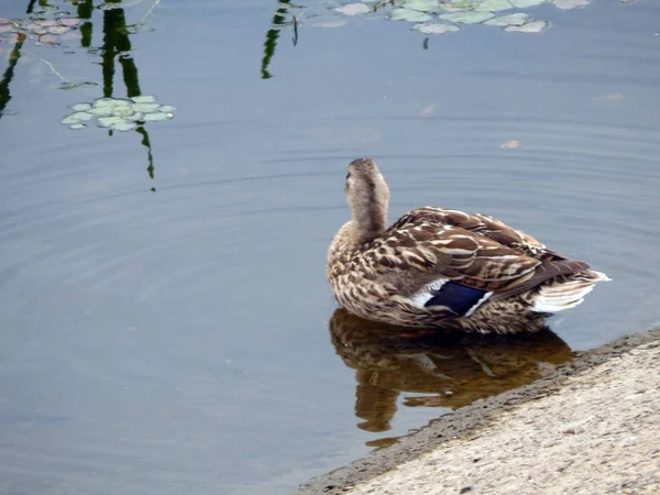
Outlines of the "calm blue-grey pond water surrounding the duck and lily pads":
M 6 1 L 0 16 L 28 3 Z M 296 46 L 292 29 L 279 33 L 266 67 L 274 1 L 125 6 L 128 24 L 148 14 L 129 35 L 128 79 L 110 59 L 102 85 L 100 10 L 90 50 L 28 40 L 10 77 L 2 493 L 292 493 L 659 322 L 653 2 L 544 6 L 541 35 L 472 26 L 428 50 L 407 23 L 309 20 Z M 11 47 L 0 43 L 6 80 Z M 99 86 L 59 90 L 42 59 Z M 59 123 L 69 106 L 136 84 L 177 107 L 144 127 L 150 146 L 134 131 Z M 344 167 L 363 155 L 389 180 L 393 216 L 488 212 L 614 282 L 552 319 L 553 334 L 374 343 L 369 326 L 333 317 L 324 282 L 348 216 Z

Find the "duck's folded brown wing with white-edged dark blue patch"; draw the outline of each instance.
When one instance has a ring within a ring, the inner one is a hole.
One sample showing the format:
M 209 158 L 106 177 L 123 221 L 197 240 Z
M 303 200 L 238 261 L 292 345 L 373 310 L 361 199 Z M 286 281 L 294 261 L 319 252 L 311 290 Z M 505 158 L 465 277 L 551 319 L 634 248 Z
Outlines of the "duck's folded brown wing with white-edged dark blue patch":
M 420 208 L 373 241 L 367 256 L 397 293 L 421 306 L 473 311 L 549 278 L 587 268 L 487 216 Z

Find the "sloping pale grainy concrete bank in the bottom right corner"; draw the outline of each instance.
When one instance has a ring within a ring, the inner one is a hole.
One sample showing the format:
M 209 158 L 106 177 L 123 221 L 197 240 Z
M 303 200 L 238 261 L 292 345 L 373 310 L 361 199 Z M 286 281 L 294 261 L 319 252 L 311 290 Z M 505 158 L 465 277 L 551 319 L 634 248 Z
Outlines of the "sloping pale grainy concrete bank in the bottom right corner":
M 660 494 L 660 329 L 462 408 L 301 494 Z

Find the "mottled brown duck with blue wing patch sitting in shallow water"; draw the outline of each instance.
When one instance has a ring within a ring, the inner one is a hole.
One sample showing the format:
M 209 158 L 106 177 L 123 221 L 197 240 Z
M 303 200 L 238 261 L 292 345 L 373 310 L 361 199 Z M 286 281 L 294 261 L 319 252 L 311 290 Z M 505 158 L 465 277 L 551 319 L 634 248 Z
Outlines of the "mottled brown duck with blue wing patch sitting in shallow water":
M 351 219 L 334 235 L 326 275 L 341 308 L 406 328 L 540 331 L 609 278 L 487 215 L 414 209 L 387 227 L 389 187 L 371 158 L 345 176 Z

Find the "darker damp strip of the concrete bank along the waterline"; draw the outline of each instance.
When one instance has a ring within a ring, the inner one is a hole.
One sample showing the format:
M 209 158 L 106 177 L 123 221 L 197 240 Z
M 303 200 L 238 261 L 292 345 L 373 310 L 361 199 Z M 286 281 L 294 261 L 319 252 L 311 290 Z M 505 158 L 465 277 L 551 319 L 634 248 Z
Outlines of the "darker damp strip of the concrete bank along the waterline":
M 298 494 L 334 495 L 346 493 L 353 486 L 416 459 L 436 449 L 444 441 L 459 438 L 488 425 L 502 411 L 556 393 L 570 376 L 582 374 L 608 360 L 620 356 L 638 345 L 659 340 L 660 328 L 624 336 L 610 343 L 585 352 L 570 363 L 560 366 L 547 377 L 487 399 L 476 400 L 470 406 L 431 421 L 430 425 L 402 438 L 392 447 L 378 450 L 367 458 L 315 477 L 301 485 Z

